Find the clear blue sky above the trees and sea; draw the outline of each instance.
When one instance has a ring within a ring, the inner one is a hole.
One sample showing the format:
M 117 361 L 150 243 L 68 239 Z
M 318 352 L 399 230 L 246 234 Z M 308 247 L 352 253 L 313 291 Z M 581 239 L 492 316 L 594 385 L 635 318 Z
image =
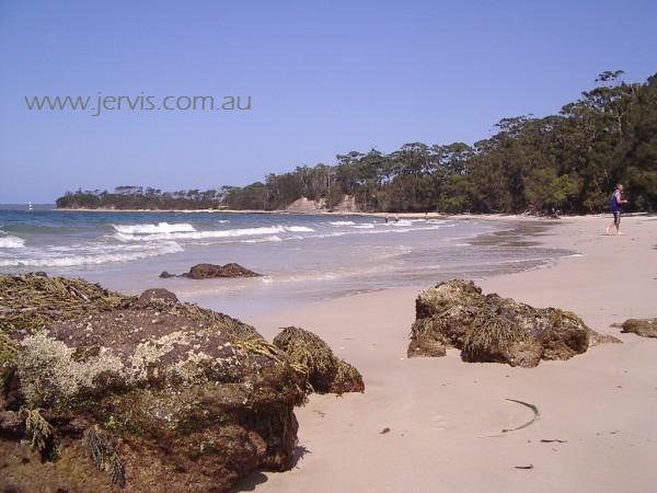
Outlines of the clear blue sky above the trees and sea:
M 0 0 L 0 203 L 243 185 L 472 142 L 603 70 L 657 72 L 655 1 Z M 30 112 L 26 95 L 251 95 L 250 112 Z

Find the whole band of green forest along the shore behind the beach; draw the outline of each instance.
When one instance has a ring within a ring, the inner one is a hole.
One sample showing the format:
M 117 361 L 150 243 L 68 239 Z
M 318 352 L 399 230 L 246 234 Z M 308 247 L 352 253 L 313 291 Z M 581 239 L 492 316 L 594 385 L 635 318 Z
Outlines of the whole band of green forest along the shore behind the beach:
M 622 77 L 622 70 L 606 71 L 558 114 L 503 118 L 495 135 L 473 145 L 351 151 L 336 156 L 334 164 L 298 167 L 205 193 L 78 191 L 57 206 L 277 210 L 306 197 L 331 209 L 349 195 L 364 211 L 587 214 L 607 210 L 621 182 L 632 210 L 654 211 L 657 74 L 643 83 Z

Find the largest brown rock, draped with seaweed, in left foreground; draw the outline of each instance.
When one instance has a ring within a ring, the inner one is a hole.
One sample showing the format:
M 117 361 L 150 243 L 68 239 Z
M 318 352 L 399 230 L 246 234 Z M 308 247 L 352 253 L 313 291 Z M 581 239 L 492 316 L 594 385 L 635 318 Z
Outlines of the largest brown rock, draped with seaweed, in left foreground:
M 251 325 L 60 277 L 0 276 L 0 298 L 4 491 L 221 492 L 292 466 L 307 376 Z

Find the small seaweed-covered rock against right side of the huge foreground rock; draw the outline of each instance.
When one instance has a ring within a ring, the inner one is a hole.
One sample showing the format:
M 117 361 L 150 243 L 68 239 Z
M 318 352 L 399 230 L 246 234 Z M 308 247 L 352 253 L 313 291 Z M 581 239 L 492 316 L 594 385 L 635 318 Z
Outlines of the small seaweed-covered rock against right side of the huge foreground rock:
M 290 360 L 307 369 L 308 381 L 315 392 L 365 392 L 360 372 L 353 365 L 337 358 L 319 335 L 297 326 L 288 326 L 274 337 L 274 345 Z

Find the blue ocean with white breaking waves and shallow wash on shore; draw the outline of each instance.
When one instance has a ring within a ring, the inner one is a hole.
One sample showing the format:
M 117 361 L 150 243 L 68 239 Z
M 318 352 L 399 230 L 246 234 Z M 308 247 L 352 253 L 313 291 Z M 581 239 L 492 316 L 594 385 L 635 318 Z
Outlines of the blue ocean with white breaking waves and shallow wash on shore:
M 511 231 L 515 226 L 520 230 Z M 0 207 L 0 272 L 45 271 L 124 293 L 173 290 L 235 317 L 356 293 L 430 286 L 550 265 L 573 252 L 522 238 L 521 225 L 371 216 L 67 211 Z M 162 279 L 237 262 L 257 278 Z

